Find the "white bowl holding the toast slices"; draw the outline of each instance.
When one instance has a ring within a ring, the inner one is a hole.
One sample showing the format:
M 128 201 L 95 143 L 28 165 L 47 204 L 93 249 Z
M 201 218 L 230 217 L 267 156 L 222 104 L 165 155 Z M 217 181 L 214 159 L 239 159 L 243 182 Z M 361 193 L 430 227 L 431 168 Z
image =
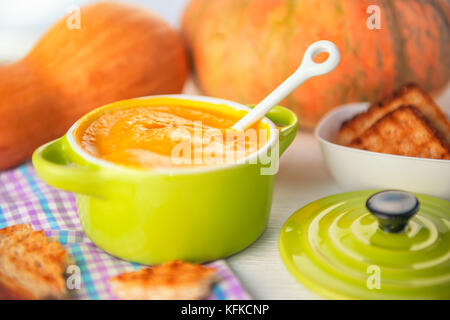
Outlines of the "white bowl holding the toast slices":
M 338 107 L 316 127 L 315 136 L 336 183 L 346 190 L 402 189 L 450 200 L 450 160 L 396 156 L 335 142 L 342 123 L 368 106 L 352 103 Z

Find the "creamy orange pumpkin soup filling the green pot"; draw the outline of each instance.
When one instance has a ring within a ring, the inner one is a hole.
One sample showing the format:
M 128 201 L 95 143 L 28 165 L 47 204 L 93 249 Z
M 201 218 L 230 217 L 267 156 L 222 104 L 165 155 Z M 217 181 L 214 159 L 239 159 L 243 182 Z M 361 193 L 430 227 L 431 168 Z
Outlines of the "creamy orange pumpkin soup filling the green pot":
M 235 162 L 269 139 L 258 122 L 245 132 L 230 129 L 242 112 L 186 106 L 143 106 L 107 111 L 78 137 L 98 158 L 127 166 L 185 167 Z

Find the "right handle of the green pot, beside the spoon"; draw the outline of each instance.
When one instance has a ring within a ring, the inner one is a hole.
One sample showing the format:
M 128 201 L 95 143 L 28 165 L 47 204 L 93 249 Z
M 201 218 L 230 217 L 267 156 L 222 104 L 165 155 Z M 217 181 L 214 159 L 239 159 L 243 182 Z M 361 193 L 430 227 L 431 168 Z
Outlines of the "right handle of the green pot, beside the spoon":
M 249 106 L 253 108 L 254 106 Z M 298 131 L 298 119 L 295 113 L 282 106 L 273 107 L 267 112 L 266 117 L 275 123 L 279 128 L 280 156 L 294 141 Z

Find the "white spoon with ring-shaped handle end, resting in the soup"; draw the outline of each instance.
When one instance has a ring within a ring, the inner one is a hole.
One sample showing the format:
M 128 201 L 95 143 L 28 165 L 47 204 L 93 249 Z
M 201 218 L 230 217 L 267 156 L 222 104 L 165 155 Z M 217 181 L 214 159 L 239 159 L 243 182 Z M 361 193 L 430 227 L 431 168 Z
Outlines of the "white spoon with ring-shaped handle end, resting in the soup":
M 314 62 L 313 58 L 321 52 L 328 52 L 328 59 L 321 63 Z M 289 78 L 284 80 L 282 84 L 265 97 L 256 107 L 236 122 L 233 125 L 233 129 L 247 129 L 256 121 L 262 119 L 270 109 L 275 107 L 303 82 L 309 78 L 327 74 L 336 68 L 339 59 L 339 50 L 334 43 L 327 40 L 314 42 L 306 49 L 300 67 L 298 67 Z

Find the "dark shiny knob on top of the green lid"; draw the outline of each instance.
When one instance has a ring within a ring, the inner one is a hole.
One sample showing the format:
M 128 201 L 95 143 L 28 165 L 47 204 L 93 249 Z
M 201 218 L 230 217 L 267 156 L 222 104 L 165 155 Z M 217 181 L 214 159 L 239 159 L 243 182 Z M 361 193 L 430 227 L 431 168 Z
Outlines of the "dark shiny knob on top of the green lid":
M 419 201 L 409 192 L 386 190 L 370 196 L 366 207 L 377 217 L 383 231 L 402 232 L 409 219 L 419 210 Z

